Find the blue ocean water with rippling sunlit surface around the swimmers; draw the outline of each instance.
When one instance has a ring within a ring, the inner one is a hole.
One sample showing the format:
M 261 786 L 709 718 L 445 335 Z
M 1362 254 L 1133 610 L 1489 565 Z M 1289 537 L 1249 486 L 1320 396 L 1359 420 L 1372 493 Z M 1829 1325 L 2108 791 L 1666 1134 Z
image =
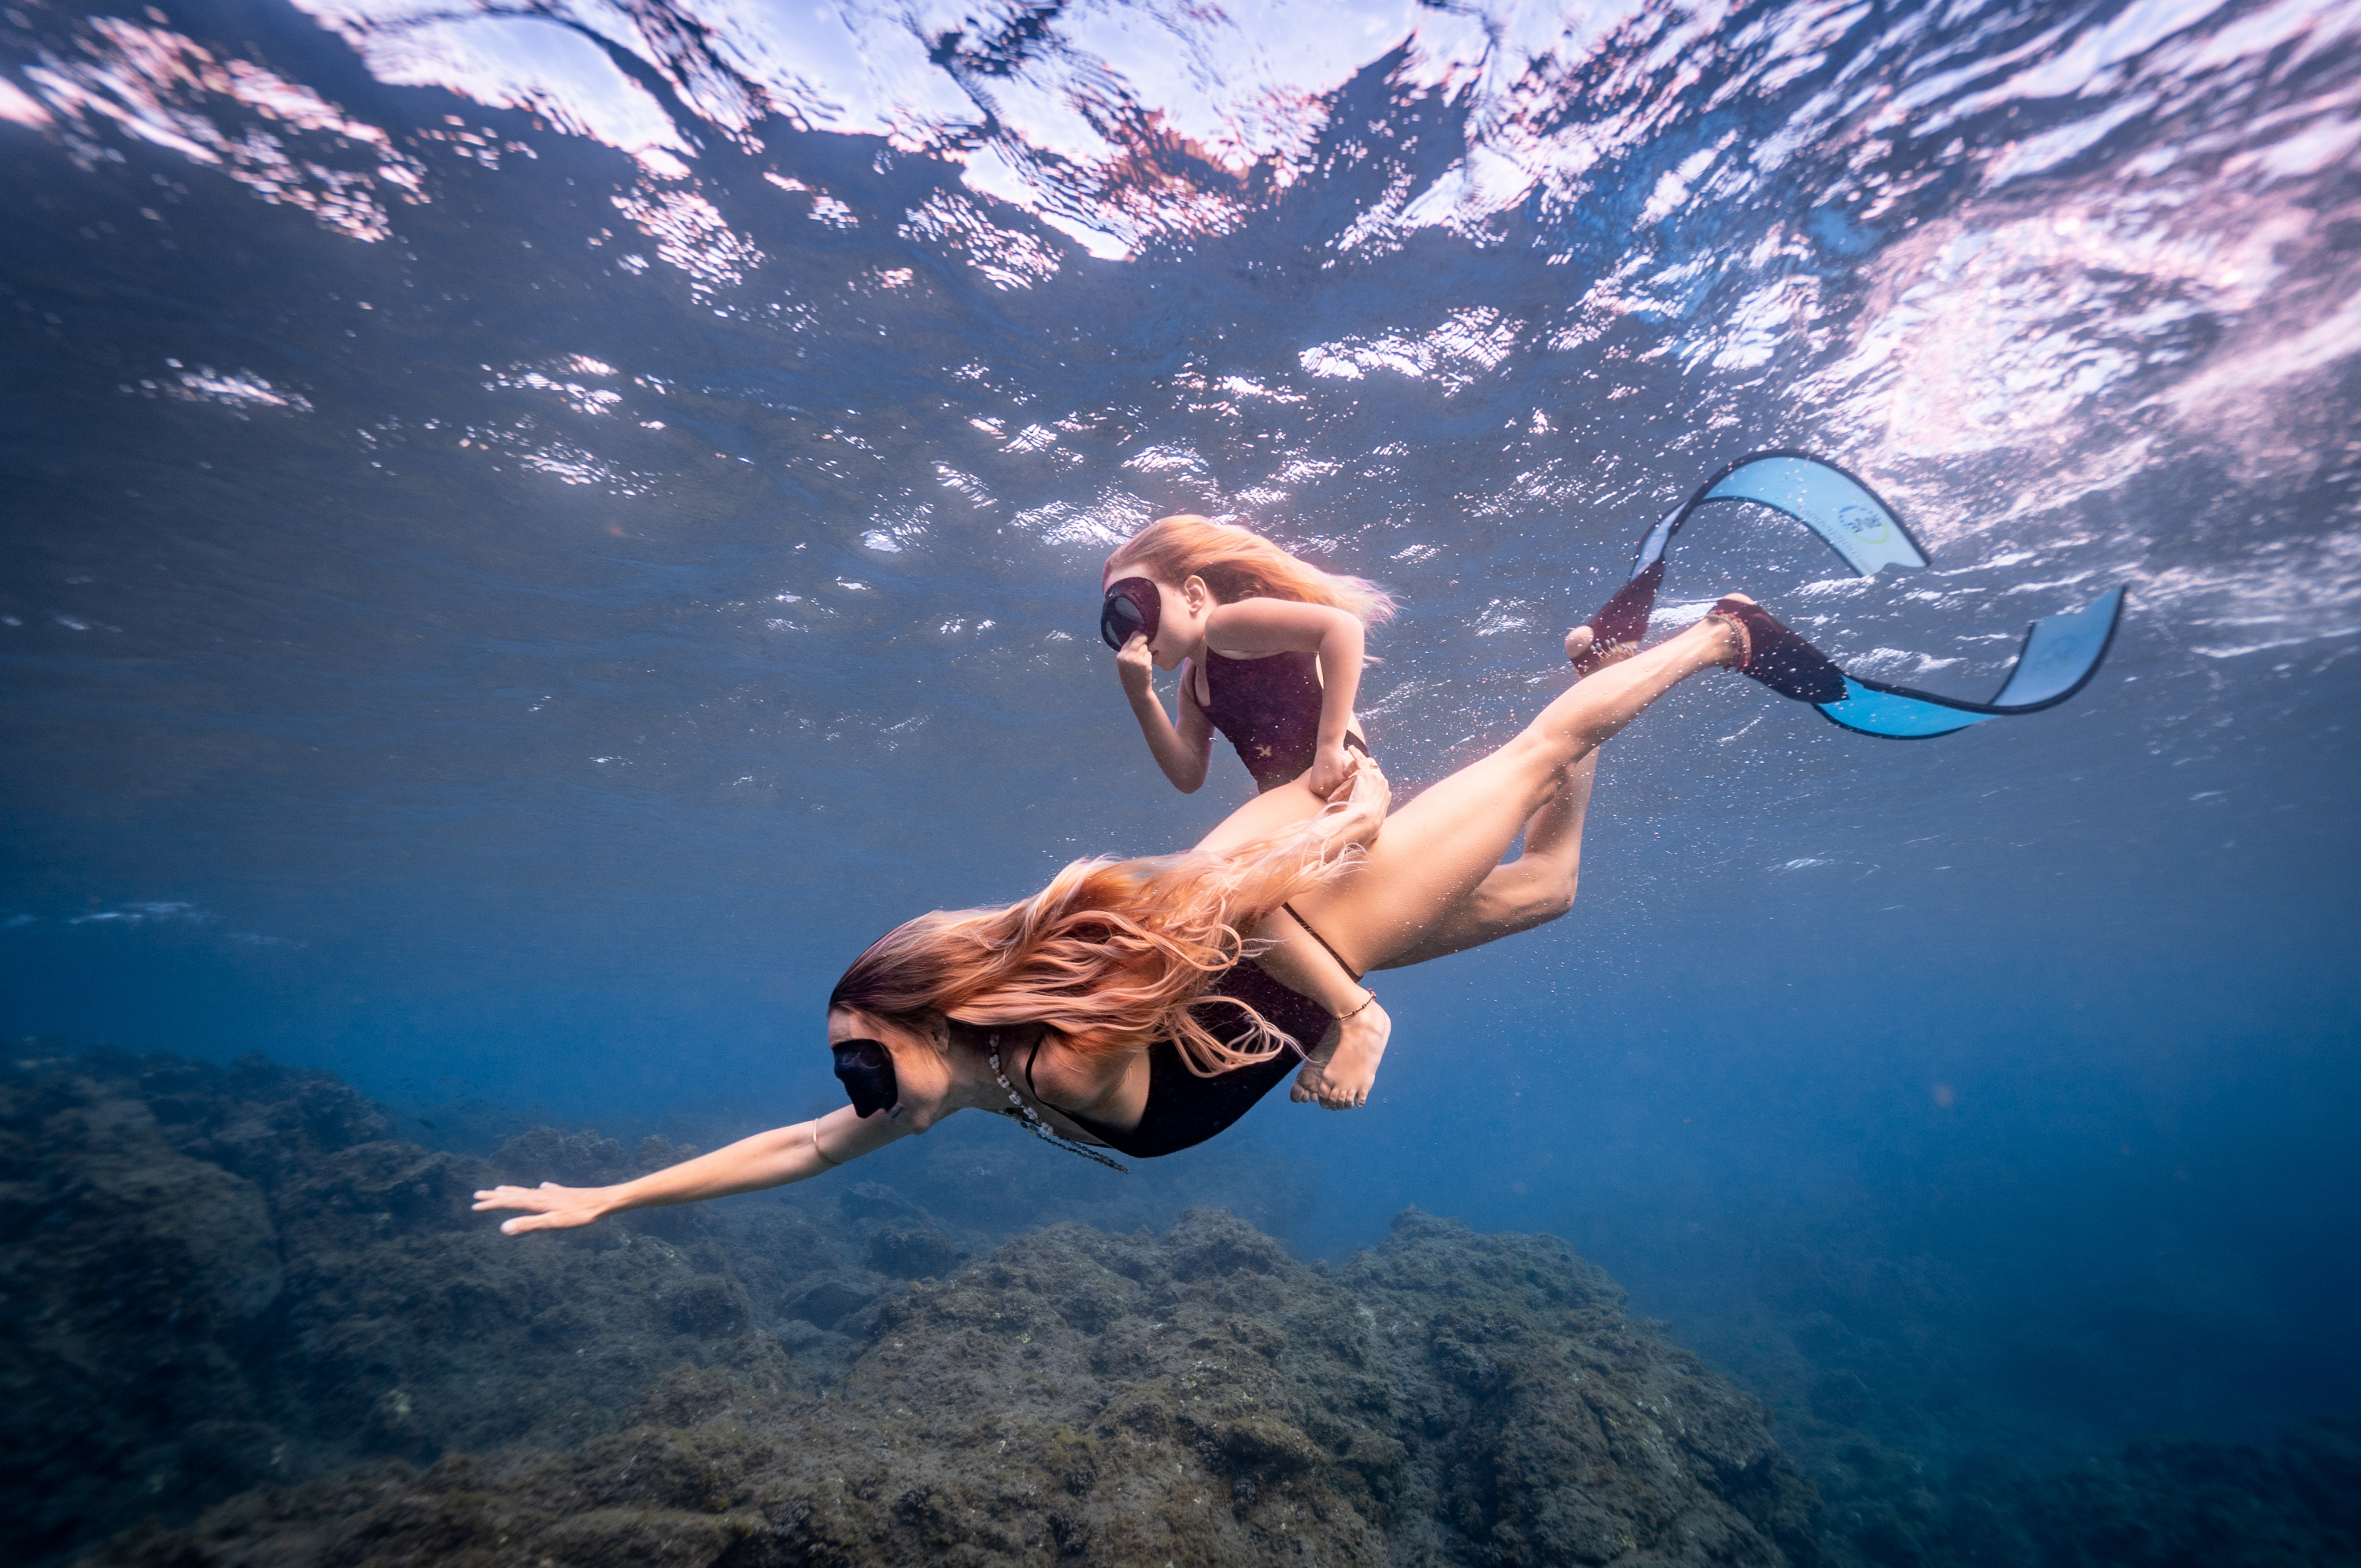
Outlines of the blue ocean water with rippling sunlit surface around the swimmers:
M 1367 1112 L 1157 1181 L 1558 1233 L 1931 1448 L 2354 1412 L 2356 59 L 2297 0 L 17 0 L 0 1030 L 427 1143 L 791 1122 L 876 933 L 1249 793 L 1138 744 L 1114 538 L 1391 586 L 1407 793 L 1799 446 L 1934 567 L 1726 508 L 1660 626 L 1986 697 L 2127 583 L 2099 680 L 1922 744 L 1683 687 L 1565 921 L 1384 978 Z

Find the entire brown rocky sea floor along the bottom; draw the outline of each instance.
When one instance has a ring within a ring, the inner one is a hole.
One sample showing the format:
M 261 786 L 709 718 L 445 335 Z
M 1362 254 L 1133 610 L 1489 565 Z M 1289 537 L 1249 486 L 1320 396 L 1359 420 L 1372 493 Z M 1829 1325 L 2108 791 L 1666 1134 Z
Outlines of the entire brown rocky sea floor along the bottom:
M 2361 1563 L 2361 1422 L 1934 1474 L 1849 1424 L 1842 1367 L 1775 1431 L 1546 1235 L 1407 1211 L 1303 1263 L 1251 1181 L 1008 1235 L 977 1226 L 992 1164 L 930 1207 L 833 1181 L 534 1237 L 467 1207 L 685 1152 L 472 1157 L 328 1074 L 19 1044 L 0 1554 Z

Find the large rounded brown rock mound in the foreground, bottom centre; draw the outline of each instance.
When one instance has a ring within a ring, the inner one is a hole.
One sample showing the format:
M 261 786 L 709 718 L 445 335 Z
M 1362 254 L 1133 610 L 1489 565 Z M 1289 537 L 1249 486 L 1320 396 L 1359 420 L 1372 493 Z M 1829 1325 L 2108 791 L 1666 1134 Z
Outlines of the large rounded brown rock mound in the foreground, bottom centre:
M 1549 1237 L 1405 1214 L 1348 1268 L 1209 1209 L 888 1296 L 826 1396 L 774 1341 L 581 1452 L 264 1490 L 104 1563 L 1787 1563 L 1761 1407 Z

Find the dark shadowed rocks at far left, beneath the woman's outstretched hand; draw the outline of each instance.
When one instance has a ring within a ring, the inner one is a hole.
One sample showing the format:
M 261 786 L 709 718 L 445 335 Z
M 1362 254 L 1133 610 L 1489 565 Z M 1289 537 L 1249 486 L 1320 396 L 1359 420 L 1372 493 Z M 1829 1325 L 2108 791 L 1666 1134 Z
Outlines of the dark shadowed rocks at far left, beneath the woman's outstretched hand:
M 366 1457 L 586 1443 L 675 1367 L 760 1360 L 765 1329 L 805 1341 L 810 1379 L 850 1346 L 784 1299 L 888 1285 L 800 1216 L 519 1247 L 470 1211 L 493 1181 L 692 1152 L 661 1138 L 536 1129 L 515 1169 L 387 1133 L 345 1084 L 262 1058 L 0 1067 L 0 1556 Z

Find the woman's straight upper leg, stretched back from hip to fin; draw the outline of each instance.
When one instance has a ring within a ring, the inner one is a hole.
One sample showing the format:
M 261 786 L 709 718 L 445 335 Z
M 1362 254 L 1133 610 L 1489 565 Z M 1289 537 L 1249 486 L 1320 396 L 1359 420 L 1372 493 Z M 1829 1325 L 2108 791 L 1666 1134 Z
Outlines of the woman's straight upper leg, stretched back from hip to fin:
M 1405 961 L 1499 867 L 1518 829 L 1601 741 L 1698 671 L 1731 664 L 1738 633 L 1700 621 L 1669 642 L 1587 675 L 1492 756 L 1426 789 L 1386 819 L 1367 862 L 1301 900 L 1355 968 Z

